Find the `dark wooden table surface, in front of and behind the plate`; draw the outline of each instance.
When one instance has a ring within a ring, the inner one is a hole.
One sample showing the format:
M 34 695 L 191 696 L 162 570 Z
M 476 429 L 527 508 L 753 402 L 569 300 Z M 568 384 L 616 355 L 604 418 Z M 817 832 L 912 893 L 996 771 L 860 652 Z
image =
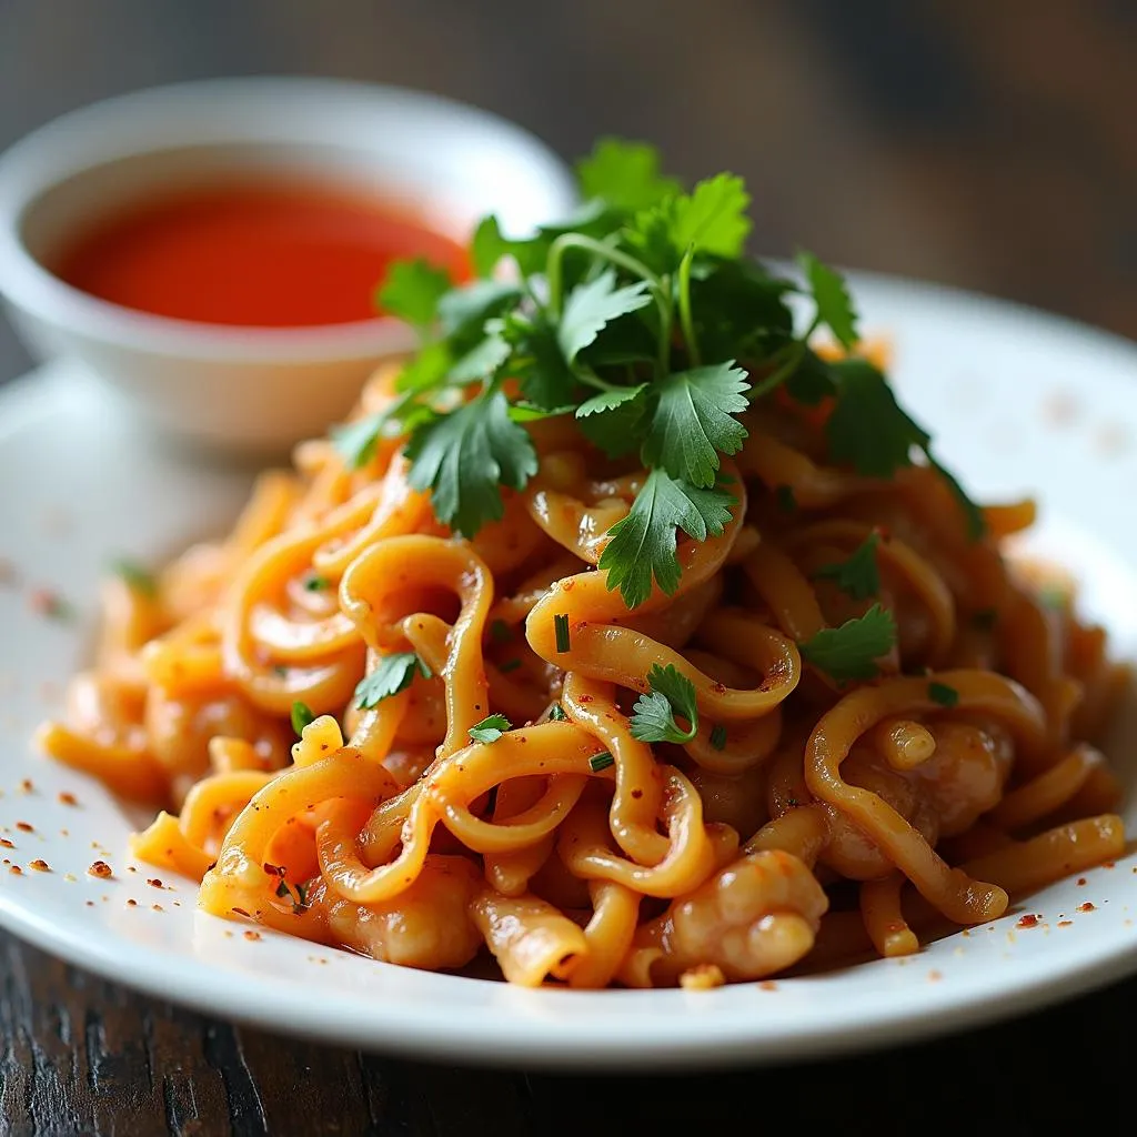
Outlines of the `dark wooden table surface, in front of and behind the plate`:
M 94 98 L 265 72 L 438 90 L 566 157 L 600 132 L 649 138 L 678 173 L 746 175 L 764 251 L 799 242 L 1137 335 L 1131 0 L 0 0 L 0 148 Z M 0 326 L 0 381 L 26 365 Z M 1135 1021 L 1130 981 L 782 1070 L 471 1071 L 206 1019 L 0 935 L 0 1134 L 1080 1131 L 1132 1117 Z

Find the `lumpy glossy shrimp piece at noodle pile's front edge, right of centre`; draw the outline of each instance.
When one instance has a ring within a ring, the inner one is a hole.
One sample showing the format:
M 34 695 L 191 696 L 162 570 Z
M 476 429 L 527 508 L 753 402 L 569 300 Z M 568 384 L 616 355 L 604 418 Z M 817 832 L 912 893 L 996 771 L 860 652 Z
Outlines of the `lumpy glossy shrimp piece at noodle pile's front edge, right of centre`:
M 727 980 L 762 979 L 797 963 L 812 947 L 829 898 L 791 853 L 750 853 L 672 902 L 636 937 L 655 982 L 675 982 L 713 965 Z

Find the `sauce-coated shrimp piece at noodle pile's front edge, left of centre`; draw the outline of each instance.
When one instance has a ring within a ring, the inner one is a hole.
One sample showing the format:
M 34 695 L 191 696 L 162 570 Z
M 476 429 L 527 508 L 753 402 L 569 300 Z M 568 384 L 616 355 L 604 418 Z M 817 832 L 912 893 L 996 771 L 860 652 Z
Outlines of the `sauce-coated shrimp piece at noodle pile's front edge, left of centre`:
M 384 963 L 439 971 L 467 964 L 482 937 L 466 914 L 480 883 L 473 862 L 426 856 L 413 885 L 383 904 L 356 904 L 332 889 L 324 894 L 334 943 Z

